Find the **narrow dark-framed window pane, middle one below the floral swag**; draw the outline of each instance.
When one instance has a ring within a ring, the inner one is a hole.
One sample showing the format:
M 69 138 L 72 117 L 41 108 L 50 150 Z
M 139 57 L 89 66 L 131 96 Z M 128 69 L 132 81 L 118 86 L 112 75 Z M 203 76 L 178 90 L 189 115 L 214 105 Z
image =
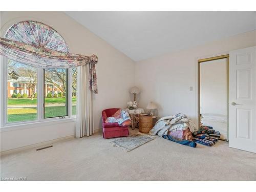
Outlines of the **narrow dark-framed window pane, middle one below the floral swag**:
M 67 80 L 67 69 L 45 69 L 45 118 L 68 115 Z

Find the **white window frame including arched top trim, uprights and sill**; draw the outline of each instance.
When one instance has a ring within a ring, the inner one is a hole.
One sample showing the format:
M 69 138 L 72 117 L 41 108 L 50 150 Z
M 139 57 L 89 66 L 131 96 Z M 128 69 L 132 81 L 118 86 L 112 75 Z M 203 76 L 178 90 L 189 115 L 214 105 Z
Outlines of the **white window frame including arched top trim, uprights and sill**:
M 26 20 L 35 20 L 36 22 L 40 22 L 45 24 L 44 20 L 38 20 L 38 19 L 34 19 L 32 17 L 28 17 Z M 16 18 L 14 20 L 9 20 L 2 28 L 2 30 L 0 31 L 0 35 L 1 37 L 5 37 L 6 32 L 15 24 L 24 21 L 24 18 Z M 45 24 L 48 25 L 48 24 Z M 53 29 L 59 33 L 54 26 L 50 26 L 53 27 Z M 60 34 L 60 33 L 59 33 Z M 65 40 L 66 44 L 67 44 L 67 40 L 68 38 L 64 38 L 63 34 L 60 34 L 60 36 Z M 64 34 L 65 36 L 65 34 Z M 67 44 L 68 47 L 68 44 Z M 69 50 L 69 47 L 68 47 Z M 53 124 L 57 124 L 57 123 L 66 123 L 66 122 L 74 122 L 76 119 L 76 115 L 72 115 L 72 108 L 69 107 L 69 116 L 66 117 L 65 119 L 59 119 L 59 118 L 50 118 L 50 119 L 44 119 L 42 117 L 42 97 L 44 96 L 44 94 L 42 93 L 41 89 L 42 89 L 42 70 L 41 69 L 37 69 L 37 120 L 33 120 L 33 121 L 18 121 L 18 122 L 10 122 L 7 123 L 6 118 L 7 118 L 7 58 L 0 55 L 0 132 L 4 132 L 4 131 L 11 131 L 11 130 L 20 130 L 20 129 L 32 129 L 35 128 L 37 126 L 47 126 L 47 125 L 53 125 Z M 72 82 L 72 76 L 70 73 L 70 69 L 69 69 L 69 103 L 72 103 L 72 87 L 71 87 L 71 82 Z M 78 94 L 78 91 L 77 91 Z

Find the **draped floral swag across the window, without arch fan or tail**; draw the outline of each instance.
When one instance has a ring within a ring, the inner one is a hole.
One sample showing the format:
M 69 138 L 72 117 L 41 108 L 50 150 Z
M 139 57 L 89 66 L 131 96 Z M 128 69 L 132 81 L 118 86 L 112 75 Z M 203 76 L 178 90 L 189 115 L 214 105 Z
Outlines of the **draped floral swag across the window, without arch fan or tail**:
M 37 68 L 72 68 L 98 62 L 96 55 L 83 56 L 35 47 L 0 37 L 0 54 L 11 60 Z

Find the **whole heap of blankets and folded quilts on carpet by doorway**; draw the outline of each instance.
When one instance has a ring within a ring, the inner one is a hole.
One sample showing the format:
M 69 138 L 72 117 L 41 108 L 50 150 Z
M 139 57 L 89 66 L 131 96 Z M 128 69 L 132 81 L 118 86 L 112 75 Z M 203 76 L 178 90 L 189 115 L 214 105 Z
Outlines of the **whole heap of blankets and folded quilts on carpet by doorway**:
M 197 130 L 196 125 L 185 114 L 180 113 L 159 119 L 149 134 L 191 147 L 196 147 L 196 143 L 212 146 L 220 138 L 220 132 L 210 126 L 201 126 Z

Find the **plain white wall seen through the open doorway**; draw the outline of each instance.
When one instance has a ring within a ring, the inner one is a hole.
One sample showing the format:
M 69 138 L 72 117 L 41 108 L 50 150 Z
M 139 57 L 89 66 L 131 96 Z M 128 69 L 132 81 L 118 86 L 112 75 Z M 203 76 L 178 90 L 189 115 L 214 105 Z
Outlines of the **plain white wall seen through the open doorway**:
M 227 115 L 227 59 L 200 63 L 200 112 Z

